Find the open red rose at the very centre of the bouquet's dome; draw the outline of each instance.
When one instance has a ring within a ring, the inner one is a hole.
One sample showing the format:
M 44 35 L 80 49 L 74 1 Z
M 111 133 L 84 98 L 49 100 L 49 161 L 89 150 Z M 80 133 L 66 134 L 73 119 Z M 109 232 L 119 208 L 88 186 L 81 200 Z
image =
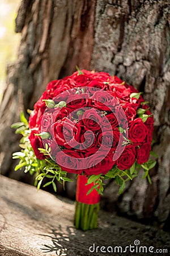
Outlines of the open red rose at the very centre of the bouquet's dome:
M 95 109 L 88 109 L 83 114 L 82 122 L 88 129 L 97 131 L 101 127 L 101 116 Z

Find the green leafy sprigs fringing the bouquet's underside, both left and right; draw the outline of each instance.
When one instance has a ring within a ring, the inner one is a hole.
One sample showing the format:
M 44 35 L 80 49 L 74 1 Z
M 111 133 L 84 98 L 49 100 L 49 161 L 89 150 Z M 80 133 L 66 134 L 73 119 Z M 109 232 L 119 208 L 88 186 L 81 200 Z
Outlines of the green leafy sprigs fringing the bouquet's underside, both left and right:
M 45 148 L 39 148 L 40 153 L 44 154 L 46 158 L 43 160 L 36 158 L 31 143 L 28 139 L 31 131 L 29 130 L 28 121 L 24 117 L 23 113 L 20 115 L 20 120 L 21 122 L 17 122 L 11 125 L 12 128 L 16 129 L 15 133 L 23 135 L 19 145 L 21 147 L 21 151 L 12 154 L 13 159 L 19 159 L 19 163 L 15 167 L 15 171 L 22 170 L 24 168 L 24 172 L 29 172 L 29 174 L 35 175 L 35 185 L 37 185 L 37 189 L 40 189 L 42 181 L 45 178 L 49 181 L 46 182 L 43 187 L 53 185 L 55 192 L 57 191 L 56 181 L 61 183 L 63 187 L 65 187 L 65 181 L 73 181 L 67 177 L 67 172 L 62 171 L 61 167 L 59 167 L 58 164 L 54 162 L 52 156 L 50 155 L 51 148 L 48 147 L 48 144 L 45 144 Z M 37 135 L 40 135 L 41 137 L 45 136 L 45 138 L 48 137 L 48 133 Z M 154 156 L 155 159 L 158 158 L 158 156 L 153 151 L 151 151 L 150 154 L 152 157 Z M 105 185 L 104 180 L 108 179 L 114 179 L 117 185 L 120 185 L 119 193 L 121 194 L 126 187 L 126 182 L 133 180 L 141 168 L 143 168 L 144 171 L 142 178 L 145 179 L 147 177 L 148 182 L 151 184 L 149 171 L 155 167 L 155 164 L 156 160 L 148 159 L 148 161 L 142 165 L 135 162 L 129 170 L 122 171 L 117 166 L 113 166 L 113 168 L 105 175 L 91 175 L 88 177 L 86 185 L 91 183 L 94 183 L 94 185 L 88 191 L 87 195 L 90 194 L 93 189 L 96 189 L 100 195 L 103 195 Z

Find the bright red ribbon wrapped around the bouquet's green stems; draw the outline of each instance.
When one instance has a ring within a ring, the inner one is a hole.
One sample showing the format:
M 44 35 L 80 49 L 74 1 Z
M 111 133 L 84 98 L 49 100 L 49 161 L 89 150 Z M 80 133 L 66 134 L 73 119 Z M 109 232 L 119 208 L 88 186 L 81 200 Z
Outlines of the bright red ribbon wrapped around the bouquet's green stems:
M 87 192 L 92 188 L 94 182 L 86 185 L 88 177 L 84 175 L 78 175 L 76 182 L 76 201 L 84 204 L 97 204 L 100 202 L 100 195 L 97 193 L 96 189 L 86 195 Z

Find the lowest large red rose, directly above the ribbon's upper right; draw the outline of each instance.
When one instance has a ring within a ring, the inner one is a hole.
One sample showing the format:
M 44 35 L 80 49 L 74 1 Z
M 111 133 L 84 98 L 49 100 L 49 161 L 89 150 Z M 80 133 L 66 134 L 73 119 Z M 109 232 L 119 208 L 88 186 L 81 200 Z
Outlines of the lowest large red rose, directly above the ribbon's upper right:
M 84 169 L 84 173 L 86 175 L 98 175 L 98 174 L 107 174 L 109 170 L 113 167 L 113 156 L 109 153 L 105 156 L 104 152 L 96 152 L 96 154 L 91 155 L 88 152 L 85 157 L 89 159 L 86 160 L 86 169 Z M 101 161 L 99 162 L 99 160 Z

